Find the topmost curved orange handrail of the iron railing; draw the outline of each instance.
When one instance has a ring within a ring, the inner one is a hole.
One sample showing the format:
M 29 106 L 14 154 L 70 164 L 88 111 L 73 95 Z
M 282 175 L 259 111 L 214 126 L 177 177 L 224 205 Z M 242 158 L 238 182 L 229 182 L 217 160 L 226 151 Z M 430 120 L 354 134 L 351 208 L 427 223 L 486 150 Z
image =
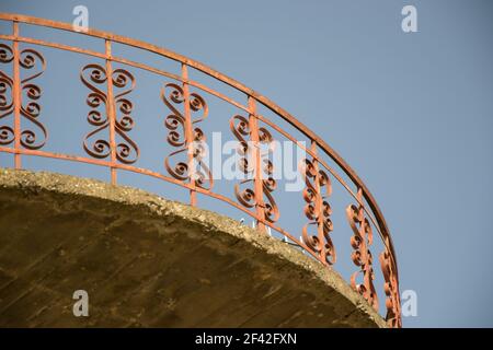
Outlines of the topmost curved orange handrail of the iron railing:
M 274 112 L 276 115 L 280 116 L 284 120 L 286 120 L 288 124 L 290 124 L 293 127 L 301 131 L 306 137 L 308 137 L 310 140 L 316 142 L 343 171 L 344 173 L 352 179 L 352 182 L 357 186 L 358 189 L 362 190 L 363 197 L 368 202 L 368 206 L 370 207 L 371 211 L 374 212 L 376 220 L 378 222 L 379 229 L 381 231 L 381 234 L 383 235 L 383 238 L 387 240 L 387 242 L 383 242 L 386 245 L 389 246 L 391 256 L 392 256 L 392 262 L 394 265 L 395 275 L 398 276 L 398 266 L 397 266 L 397 256 L 394 252 L 394 246 L 392 243 L 392 238 L 389 233 L 389 229 L 387 225 L 387 222 L 383 218 L 383 214 L 377 205 L 377 201 L 375 200 L 374 196 L 367 188 L 367 186 L 363 183 L 363 180 L 359 178 L 359 176 L 356 174 L 356 172 L 339 155 L 339 153 L 333 150 L 329 144 L 326 144 L 319 136 L 317 136 L 313 131 L 311 131 L 307 126 L 305 126 L 302 122 L 300 122 L 298 119 L 296 119 L 291 114 L 289 114 L 284 108 L 279 107 L 277 104 L 268 100 L 267 97 L 263 96 L 262 94 L 255 92 L 254 90 L 245 86 L 244 84 L 240 83 L 239 81 L 229 78 L 228 75 L 225 75 L 215 69 L 203 65 L 196 60 L 193 60 L 186 56 L 173 52 L 169 49 L 141 42 L 138 39 L 128 38 L 125 36 L 98 31 L 93 28 L 88 28 L 84 32 L 76 31 L 72 24 L 58 22 L 58 21 L 51 21 L 35 16 L 28 16 L 28 15 L 22 15 L 22 14 L 13 14 L 13 13 L 0 13 L 0 20 L 2 21 L 12 21 L 18 23 L 24 23 L 24 24 L 31 24 L 31 25 L 38 25 L 38 26 L 45 26 L 45 27 L 53 27 L 57 30 L 73 32 L 77 34 L 82 34 L 87 36 L 98 37 L 105 40 L 111 40 L 114 43 L 119 43 L 128 46 L 133 46 L 136 48 L 140 48 L 144 50 L 148 50 L 158 55 L 161 55 L 163 57 L 167 57 L 169 59 L 175 60 L 177 62 L 184 63 L 188 67 L 192 67 L 207 75 L 210 75 L 230 86 L 233 89 L 243 92 L 250 97 L 253 97 L 261 104 L 263 104 L 265 107 Z

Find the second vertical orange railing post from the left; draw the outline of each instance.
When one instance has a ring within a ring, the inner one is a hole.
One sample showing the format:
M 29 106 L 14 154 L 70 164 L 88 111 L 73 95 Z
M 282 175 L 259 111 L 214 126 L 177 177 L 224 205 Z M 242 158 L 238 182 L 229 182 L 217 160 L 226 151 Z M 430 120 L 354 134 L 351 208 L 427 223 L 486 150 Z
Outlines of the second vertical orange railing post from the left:
M 116 141 L 115 141 L 115 98 L 113 96 L 113 70 L 112 70 L 112 42 L 105 40 L 105 56 L 106 56 L 106 84 L 107 84 L 107 101 L 106 115 L 110 120 L 110 150 L 111 150 L 111 175 L 112 185 L 116 185 Z

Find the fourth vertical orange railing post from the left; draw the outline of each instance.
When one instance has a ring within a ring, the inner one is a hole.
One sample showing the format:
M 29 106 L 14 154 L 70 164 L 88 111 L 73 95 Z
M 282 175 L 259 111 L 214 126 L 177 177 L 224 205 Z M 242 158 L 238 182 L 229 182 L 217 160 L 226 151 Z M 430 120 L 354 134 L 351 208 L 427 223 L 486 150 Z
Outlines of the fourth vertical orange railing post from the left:
M 265 232 L 265 224 L 263 222 L 264 212 L 264 188 L 263 188 L 263 175 L 262 175 L 262 155 L 260 149 L 259 138 L 259 122 L 256 119 L 256 103 L 255 98 L 249 96 L 249 125 L 250 125 L 250 139 L 252 142 L 253 151 L 253 183 L 255 192 L 255 209 L 256 209 L 256 226 L 262 232 Z

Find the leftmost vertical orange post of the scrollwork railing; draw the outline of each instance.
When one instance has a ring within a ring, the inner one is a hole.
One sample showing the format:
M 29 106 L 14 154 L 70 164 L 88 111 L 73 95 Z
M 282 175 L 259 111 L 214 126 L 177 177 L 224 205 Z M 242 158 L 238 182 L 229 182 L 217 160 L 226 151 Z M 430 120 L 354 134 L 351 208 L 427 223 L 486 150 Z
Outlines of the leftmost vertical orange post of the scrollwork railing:
M 12 22 L 12 30 L 14 40 L 12 44 L 13 50 L 13 103 L 14 103 L 14 167 L 21 168 L 21 104 L 22 104 L 22 91 L 21 91 L 21 71 L 20 71 L 20 56 L 19 56 L 19 23 Z

